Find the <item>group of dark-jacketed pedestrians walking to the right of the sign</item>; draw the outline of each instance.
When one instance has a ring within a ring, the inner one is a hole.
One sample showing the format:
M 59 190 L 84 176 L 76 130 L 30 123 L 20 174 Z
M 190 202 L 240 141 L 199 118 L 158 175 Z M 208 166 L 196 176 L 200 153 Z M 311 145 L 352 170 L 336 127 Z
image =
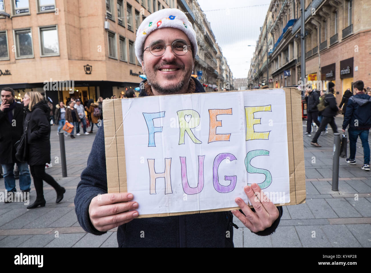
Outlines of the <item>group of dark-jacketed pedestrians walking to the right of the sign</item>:
M 323 91 L 312 90 L 310 86 L 306 88 L 305 100 L 307 103 L 307 126 L 303 136 L 312 136 L 312 123 L 317 126 L 317 131 L 311 141 L 314 147 L 321 147 L 317 142 L 320 135 L 327 133 L 327 125 L 330 124 L 332 131 L 338 133 L 335 123 L 335 116 L 344 115 L 342 132 L 348 127 L 349 151 L 350 156 L 345 160 L 349 164 L 356 164 L 355 152 L 358 136 L 361 139 L 364 164 L 363 170 L 370 170 L 370 146 L 368 144 L 368 134 L 371 128 L 371 88 L 364 87 L 363 81 L 353 83 L 355 94 L 350 88 L 345 90 L 339 106 L 336 104 L 335 84 L 328 82 L 327 94 Z M 319 118 L 321 117 L 321 118 Z

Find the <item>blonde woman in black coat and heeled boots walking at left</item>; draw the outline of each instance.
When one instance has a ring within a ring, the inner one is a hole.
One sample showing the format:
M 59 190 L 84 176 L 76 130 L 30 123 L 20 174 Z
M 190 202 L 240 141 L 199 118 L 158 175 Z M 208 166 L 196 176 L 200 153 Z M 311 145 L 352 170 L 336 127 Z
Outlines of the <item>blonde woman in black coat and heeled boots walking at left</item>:
M 50 162 L 50 123 L 47 119 L 50 108 L 39 92 L 27 92 L 24 95 L 23 104 L 26 108 L 23 127 L 27 130 L 27 162 L 30 165 L 36 190 L 36 201 L 27 209 L 36 208 L 39 205 L 45 207 L 43 180 L 55 189 L 56 203 L 59 203 L 66 190 L 52 176 L 45 173 L 45 164 Z

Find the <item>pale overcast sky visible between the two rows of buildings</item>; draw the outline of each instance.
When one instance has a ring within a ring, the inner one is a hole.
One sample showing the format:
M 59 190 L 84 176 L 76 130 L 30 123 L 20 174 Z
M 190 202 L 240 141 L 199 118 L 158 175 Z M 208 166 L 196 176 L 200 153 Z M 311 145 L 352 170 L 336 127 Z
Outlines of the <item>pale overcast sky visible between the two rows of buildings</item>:
M 247 77 L 269 3 L 270 0 L 198 0 L 233 78 Z

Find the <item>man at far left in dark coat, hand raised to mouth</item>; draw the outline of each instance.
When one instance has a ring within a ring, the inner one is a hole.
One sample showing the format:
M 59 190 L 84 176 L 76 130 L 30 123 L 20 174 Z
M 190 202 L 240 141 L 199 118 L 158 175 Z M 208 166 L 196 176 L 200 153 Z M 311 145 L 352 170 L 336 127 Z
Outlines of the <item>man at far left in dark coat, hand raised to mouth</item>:
M 23 134 L 23 105 L 16 103 L 14 90 L 4 87 L 1 90 L 0 105 L 0 163 L 4 168 L 4 183 L 9 194 L 16 192 L 14 163 L 19 169 L 19 188 L 22 192 L 30 192 L 31 176 L 27 163 L 19 162 L 14 144 Z

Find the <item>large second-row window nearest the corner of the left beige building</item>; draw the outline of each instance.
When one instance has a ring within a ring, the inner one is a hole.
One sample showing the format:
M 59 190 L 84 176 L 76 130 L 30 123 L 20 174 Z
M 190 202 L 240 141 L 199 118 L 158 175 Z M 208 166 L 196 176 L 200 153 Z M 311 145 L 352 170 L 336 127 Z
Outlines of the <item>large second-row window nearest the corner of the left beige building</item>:
M 59 42 L 57 26 L 40 27 L 40 55 L 59 55 Z

